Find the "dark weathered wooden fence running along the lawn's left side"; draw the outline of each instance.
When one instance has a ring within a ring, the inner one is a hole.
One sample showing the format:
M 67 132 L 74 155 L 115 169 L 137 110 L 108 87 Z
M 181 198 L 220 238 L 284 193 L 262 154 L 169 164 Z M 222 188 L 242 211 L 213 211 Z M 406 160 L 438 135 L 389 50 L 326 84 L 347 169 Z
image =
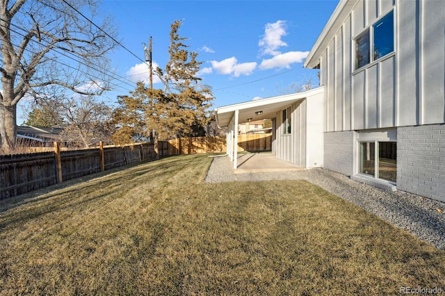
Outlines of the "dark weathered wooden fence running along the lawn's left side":
M 152 144 L 103 147 L 33 154 L 0 155 L 0 200 L 114 167 L 154 158 Z M 159 156 L 168 155 L 168 142 L 159 142 Z

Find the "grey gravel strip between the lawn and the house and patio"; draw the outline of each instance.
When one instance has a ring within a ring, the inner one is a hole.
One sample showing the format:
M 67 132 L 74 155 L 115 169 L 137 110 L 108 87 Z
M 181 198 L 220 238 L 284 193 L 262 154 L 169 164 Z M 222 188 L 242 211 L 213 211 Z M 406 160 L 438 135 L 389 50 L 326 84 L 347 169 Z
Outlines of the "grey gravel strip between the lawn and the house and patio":
M 307 180 L 352 202 L 438 249 L 445 250 L 445 203 L 407 192 L 390 192 L 323 169 L 234 174 L 227 156 L 213 159 L 207 183 L 226 181 Z M 437 209 L 444 211 L 440 213 Z

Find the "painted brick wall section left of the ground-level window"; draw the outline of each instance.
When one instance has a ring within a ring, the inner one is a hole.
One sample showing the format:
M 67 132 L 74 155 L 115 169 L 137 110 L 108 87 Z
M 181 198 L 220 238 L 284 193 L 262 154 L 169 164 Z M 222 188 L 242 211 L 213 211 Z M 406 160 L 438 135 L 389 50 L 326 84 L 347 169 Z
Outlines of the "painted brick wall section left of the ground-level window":
M 323 167 L 351 176 L 354 174 L 354 131 L 325 133 L 323 138 Z

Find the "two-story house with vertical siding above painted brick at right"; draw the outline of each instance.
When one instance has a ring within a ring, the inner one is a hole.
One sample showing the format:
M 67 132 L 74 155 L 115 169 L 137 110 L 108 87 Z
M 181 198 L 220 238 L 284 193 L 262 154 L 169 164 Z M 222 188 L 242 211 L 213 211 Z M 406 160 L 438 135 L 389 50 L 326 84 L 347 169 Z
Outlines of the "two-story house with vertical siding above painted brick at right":
M 323 167 L 445 202 L 445 2 L 341 0 L 319 68 Z

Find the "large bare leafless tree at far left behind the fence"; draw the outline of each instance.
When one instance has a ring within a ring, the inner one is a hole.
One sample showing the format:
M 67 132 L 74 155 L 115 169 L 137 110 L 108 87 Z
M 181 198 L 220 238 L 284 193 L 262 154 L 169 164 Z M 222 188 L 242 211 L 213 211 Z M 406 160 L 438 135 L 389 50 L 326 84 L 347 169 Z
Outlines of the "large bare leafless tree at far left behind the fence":
M 115 47 L 115 29 L 97 15 L 95 0 L 0 0 L 2 148 L 15 143 L 24 96 L 108 88 L 106 54 Z

